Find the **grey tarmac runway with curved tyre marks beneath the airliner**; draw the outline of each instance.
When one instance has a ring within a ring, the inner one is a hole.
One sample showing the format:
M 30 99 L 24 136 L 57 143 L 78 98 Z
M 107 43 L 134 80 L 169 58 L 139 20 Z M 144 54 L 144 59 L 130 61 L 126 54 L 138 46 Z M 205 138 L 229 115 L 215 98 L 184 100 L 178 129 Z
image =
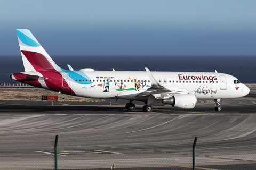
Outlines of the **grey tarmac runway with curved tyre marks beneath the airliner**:
M 59 169 L 110 168 L 113 163 L 118 169 L 189 169 L 195 137 L 197 167 L 255 167 L 255 97 L 251 89 L 246 97 L 221 100 L 220 112 L 214 111 L 213 100 L 199 100 L 188 110 L 154 107 L 151 113 L 142 112 L 142 103 L 127 111 L 124 100 L 0 101 L 1 169 L 54 167 L 57 134 Z

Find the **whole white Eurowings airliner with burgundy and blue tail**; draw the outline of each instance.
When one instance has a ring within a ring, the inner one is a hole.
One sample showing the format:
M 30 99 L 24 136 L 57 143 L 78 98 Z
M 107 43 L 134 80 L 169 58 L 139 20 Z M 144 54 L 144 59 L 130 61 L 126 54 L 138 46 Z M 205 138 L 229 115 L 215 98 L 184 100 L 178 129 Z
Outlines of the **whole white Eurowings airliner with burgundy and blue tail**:
M 213 99 L 215 111 L 220 100 L 243 97 L 249 88 L 232 75 L 207 72 L 94 71 L 93 69 L 61 69 L 27 29 L 17 29 L 25 72 L 10 75 L 31 86 L 67 95 L 126 99 L 126 109 L 133 110 L 133 101 L 142 101 L 144 112 L 153 106 L 194 108 L 197 99 Z

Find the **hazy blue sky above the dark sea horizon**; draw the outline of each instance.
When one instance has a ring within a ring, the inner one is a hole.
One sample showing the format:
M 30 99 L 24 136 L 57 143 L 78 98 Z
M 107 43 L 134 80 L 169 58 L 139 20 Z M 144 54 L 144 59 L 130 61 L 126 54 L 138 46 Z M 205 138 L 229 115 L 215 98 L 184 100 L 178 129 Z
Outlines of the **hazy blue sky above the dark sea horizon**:
M 1 1 L 0 55 L 256 55 L 256 1 Z

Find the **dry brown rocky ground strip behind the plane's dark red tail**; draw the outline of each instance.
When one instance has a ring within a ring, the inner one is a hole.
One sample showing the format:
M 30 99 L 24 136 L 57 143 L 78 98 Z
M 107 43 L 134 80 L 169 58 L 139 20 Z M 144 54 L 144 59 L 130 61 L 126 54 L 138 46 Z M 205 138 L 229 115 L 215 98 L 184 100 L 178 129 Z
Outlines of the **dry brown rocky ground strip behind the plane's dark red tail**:
M 0 100 L 39 101 L 42 100 L 42 95 L 58 96 L 58 101 L 63 101 L 62 98 L 65 98 L 64 101 L 102 101 L 101 99 L 70 96 L 38 88 L 0 88 Z

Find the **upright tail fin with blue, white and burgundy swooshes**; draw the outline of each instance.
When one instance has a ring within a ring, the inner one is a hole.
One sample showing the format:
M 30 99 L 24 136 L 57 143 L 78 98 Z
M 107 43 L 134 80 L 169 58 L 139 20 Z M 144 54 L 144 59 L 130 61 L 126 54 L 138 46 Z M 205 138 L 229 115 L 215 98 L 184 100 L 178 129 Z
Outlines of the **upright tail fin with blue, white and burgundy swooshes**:
M 24 69 L 30 71 L 61 71 L 28 29 L 16 29 Z

